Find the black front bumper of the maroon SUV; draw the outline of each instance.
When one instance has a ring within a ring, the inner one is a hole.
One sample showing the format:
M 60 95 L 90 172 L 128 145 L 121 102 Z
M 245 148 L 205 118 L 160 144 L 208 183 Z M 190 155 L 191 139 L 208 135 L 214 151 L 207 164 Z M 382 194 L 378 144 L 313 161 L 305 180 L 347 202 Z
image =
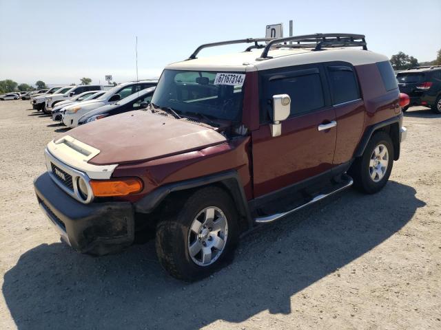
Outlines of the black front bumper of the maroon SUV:
M 44 173 L 34 181 L 37 200 L 61 238 L 74 250 L 103 255 L 134 241 L 134 207 L 126 201 L 84 204 L 76 201 Z

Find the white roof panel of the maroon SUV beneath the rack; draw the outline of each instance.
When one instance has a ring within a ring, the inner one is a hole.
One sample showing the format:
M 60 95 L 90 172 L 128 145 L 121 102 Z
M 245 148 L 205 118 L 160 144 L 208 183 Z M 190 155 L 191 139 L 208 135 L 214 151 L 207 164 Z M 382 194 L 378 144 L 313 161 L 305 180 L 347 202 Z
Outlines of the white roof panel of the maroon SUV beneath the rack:
M 363 65 L 389 61 L 387 56 L 371 52 L 369 50 L 356 50 L 353 48 L 332 48 L 328 50 L 314 51 L 311 49 L 280 49 L 270 50 L 267 58 L 258 61 L 262 50 L 254 52 L 240 52 L 218 56 L 195 58 L 194 60 L 182 61 L 167 65 L 165 69 L 201 70 L 209 71 L 256 71 L 274 69 L 277 67 L 288 67 L 291 65 L 302 65 L 310 63 L 321 63 L 329 61 L 344 61 L 352 65 Z

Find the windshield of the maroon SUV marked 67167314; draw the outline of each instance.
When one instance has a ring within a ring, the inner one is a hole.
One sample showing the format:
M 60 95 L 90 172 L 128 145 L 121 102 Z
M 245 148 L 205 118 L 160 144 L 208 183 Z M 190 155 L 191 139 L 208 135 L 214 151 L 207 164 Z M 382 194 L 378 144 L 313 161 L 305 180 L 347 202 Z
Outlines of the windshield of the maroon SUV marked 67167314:
M 164 70 L 152 103 L 180 113 L 239 120 L 244 80 L 241 73 Z

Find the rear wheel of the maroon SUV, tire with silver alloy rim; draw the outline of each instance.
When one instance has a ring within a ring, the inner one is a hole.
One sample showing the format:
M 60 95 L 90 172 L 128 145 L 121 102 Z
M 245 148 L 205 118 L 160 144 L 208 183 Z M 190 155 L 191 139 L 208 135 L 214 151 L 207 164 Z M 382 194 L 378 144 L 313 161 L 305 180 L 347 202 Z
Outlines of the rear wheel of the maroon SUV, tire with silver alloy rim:
M 348 171 L 353 178 L 354 188 L 367 194 L 380 191 L 391 175 L 393 157 L 393 143 L 389 134 L 384 131 L 373 133 L 365 152 L 356 158 Z

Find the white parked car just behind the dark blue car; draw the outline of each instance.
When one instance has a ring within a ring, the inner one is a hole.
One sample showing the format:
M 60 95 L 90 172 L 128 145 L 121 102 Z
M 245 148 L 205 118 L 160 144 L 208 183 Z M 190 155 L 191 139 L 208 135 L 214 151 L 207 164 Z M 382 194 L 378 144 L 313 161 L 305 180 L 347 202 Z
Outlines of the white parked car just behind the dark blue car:
M 158 83 L 158 80 L 141 80 L 141 81 L 132 81 L 130 83 L 123 83 L 118 86 L 113 87 L 110 91 L 107 91 L 106 94 L 101 96 L 96 100 L 91 100 L 88 102 L 83 102 L 82 104 L 74 104 L 69 107 L 66 107 L 65 112 L 63 114 L 63 123 L 69 127 L 78 126 L 78 120 L 82 115 L 97 109 L 99 107 L 103 107 L 103 105 L 112 104 L 119 100 L 123 100 L 138 91 L 146 89 L 148 87 L 154 87 Z

